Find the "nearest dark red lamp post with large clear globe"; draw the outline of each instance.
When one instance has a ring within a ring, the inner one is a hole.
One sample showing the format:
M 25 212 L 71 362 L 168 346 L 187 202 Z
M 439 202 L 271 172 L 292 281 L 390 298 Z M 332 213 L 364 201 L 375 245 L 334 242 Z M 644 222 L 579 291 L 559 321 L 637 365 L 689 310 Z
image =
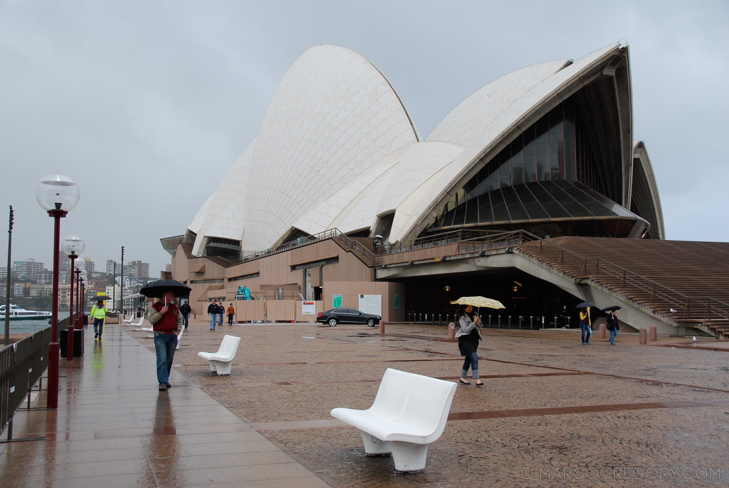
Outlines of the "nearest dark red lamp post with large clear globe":
M 51 306 L 51 342 L 48 346 L 47 408 L 58 408 L 58 271 L 61 248 L 61 218 L 79 203 L 79 187 L 61 173 L 47 174 L 36 187 L 36 200 L 53 218 L 53 298 Z

